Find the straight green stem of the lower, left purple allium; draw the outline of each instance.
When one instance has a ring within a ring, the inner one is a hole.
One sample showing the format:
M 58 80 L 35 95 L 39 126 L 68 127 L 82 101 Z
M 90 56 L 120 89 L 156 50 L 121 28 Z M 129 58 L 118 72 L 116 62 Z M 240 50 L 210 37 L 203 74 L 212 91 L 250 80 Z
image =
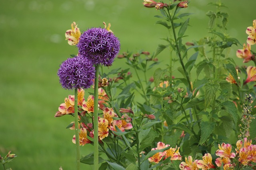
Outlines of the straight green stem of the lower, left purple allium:
M 76 169 L 80 169 L 80 148 L 79 148 L 79 126 L 78 126 L 78 102 L 77 102 L 77 88 L 75 88 L 75 136 L 76 136 Z

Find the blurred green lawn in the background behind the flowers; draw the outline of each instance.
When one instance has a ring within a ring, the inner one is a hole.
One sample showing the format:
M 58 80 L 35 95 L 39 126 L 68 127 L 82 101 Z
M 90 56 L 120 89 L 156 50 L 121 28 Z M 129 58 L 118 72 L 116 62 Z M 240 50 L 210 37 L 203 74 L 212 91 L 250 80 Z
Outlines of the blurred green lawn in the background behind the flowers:
M 143 0 L 8 0 L 0 2 L 0 155 L 9 150 L 17 154 L 7 168 L 13 170 L 72 170 L 75 166 L 74 131 L 65 129 L 69 116 L 54 118 L 58 106 L 72 91 L 64 90 L 56 72 L 59 64 L 76 54 L 64 33 L 73 21 L 81 31 L 111 23 L 121 41 L 121 52 L 144 49 L 154 53 L 165 43 L 167 30 L 156 25 L 160 15 L 154 8 L 144 8 Z M 192 0 L 184 12 L 194 13 L 186 35 L 187 41 L 207 36 L 208 17 L 214 10 L 211 0 Z M 242 44 L 246 27 L 252 26 L 255 0 L 223 0 L 228 6 L 228 32 Z M 233 47 L 231 55 L 242 47 Z M 252 49 L 255 50 L 255 49 Z M 168 61 L 166 52 L 158 56 Z M 241 60 L 239 61 L 242 64 Z M 126 67 L 123 60 L 112 68 Z M 110 68 L 110 69 L 112 69 Z M 108 68 L 105 68 L 108 72 Z M 151 73 L 149 73 L 151 74 Z M 148 75 L 150 76 L 150 75 Z M 87 94 L 86 94 L 87 95 Z M 82 154 L 92 152 L 91 145 L 81 147 Z M 90 166 L 89 166 L 90 167 Z M 82 169 L 88 168 L 82 165 Z M 0 166 L 2 169 L 2 166 Z M 90 169 L 90 168 L 88 168 Z

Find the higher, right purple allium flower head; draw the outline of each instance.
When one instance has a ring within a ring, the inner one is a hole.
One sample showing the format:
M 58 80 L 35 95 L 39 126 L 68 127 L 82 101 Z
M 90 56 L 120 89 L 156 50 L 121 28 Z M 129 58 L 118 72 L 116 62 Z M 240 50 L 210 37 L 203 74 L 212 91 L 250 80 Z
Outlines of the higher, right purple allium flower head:
M 106 29 L 91 28 L 80 36 L 77 47 L 80 55 L 87 57 L 93 64 L 111 66 L 119 53 L 120 41 Z

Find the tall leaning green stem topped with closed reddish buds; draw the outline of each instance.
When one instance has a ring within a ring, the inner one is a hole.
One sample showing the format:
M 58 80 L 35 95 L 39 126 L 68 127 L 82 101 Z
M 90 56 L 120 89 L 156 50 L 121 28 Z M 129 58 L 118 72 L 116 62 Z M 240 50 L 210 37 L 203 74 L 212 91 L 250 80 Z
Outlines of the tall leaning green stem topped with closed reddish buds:
M 174 41 L 175 41 L 175 45 L 176 45 L 176 52 L 178 53 L 178 57 L 179 57 L 179 59 L 180 59 L 180 64 L 181 64 L 181 66 L 182 66 L 182 69 L 183 69 L 183 71 L 184 71 L 184 73 L 185 73 L 185 75 L 186 75 L 186 79 L 187 79 L 187 81 L 188 81 L 188 87 L 189 87 L 188 95 L 189 95 L 190 93 L 192 93 L 192 86 L 191 86 L 191 84 L 190 84 L 190 78 L 189 78 L 189 76 L 188 76 L 188 72 L 187 72 L 187 70 L 186 70 L 186 68 L 185 68 L 185 65 L 184 65 L 183 60 L 182 60 L 182 57 L 181 57 L 180 48 L 179 48 L 179 45 L 178 45 L 178 40 L 177 40 L 177 36 L 176 36 L 176 31 L 175 31 L 173 19 L 172 19 L 171 15 L 170 15 L 169 10 L 168 10 L 168 14 L 169 14 L 169 19 L 170 19 L 171 24 L 172 24 L 172 32 L 173 32 Z

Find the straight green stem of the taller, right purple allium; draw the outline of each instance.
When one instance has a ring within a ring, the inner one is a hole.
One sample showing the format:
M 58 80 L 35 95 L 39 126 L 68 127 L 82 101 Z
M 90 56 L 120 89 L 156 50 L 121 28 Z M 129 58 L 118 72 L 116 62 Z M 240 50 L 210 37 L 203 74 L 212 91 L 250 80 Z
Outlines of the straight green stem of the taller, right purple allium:
M 99 64 L 95 65 L 94 80 L 94 170 L 99 169 L 99 143 L 98 143 L 98 88 Z

